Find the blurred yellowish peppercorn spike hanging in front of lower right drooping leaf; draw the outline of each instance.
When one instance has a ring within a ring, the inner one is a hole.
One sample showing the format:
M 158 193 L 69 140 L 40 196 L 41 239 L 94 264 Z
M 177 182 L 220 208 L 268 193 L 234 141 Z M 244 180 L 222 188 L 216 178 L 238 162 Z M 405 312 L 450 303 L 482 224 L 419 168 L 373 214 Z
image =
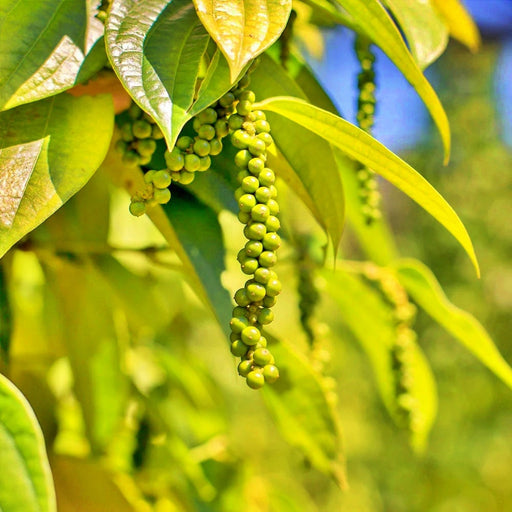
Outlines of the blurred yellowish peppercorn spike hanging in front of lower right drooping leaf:
M 416 341 L 416 333 L 413 329 L 416 306 L 409 302 L 407 292 L 391 271 L 369 264 L 366 266 L 364 275 L 377 285 L 393 311 L 396 336 L 390 349 L 390 358 L 397 413 L 402 426 L 414 431 L 419 414 L 416 399 L 411 395 L 413 381 L 411 357 L 413 344 Z

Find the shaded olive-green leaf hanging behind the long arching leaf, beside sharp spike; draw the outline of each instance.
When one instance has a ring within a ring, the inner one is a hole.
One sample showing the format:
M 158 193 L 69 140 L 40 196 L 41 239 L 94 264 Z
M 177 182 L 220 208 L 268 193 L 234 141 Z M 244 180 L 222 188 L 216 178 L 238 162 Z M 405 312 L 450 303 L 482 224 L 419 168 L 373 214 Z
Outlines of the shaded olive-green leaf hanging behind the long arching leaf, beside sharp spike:
M 286 71 L 265 55 L 251 75 L 251 88 L 261 99 L 281 95 L 306 99 Z M 268 120 L 280 152 L 270 148 L 271 167 L 304 201 L 337 248 L 343 232 L 345 202 L 330 144 L 282 116 L 269 114 Z

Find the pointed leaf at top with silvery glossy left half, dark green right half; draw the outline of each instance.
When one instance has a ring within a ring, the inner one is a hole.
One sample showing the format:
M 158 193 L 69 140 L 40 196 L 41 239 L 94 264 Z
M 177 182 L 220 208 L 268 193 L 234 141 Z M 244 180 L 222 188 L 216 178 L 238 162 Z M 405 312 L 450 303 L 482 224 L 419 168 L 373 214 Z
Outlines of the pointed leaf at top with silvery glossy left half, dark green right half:
M 218 51 L 202 75 L 210 37 L 188 0 L 114 1 L 105 34 L 114 71 L 158 123 L 169 147 L 197 111 L 231 87 Z

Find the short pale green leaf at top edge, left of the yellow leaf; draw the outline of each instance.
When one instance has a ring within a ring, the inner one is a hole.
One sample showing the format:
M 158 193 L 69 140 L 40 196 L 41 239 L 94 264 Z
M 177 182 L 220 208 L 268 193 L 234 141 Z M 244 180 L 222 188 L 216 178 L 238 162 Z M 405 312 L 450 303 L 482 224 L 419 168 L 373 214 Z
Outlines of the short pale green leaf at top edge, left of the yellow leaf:
M 448 44 L 448 27 L 432 0 L 385 0 L 404 31 L 420 68 L 432 64 Z

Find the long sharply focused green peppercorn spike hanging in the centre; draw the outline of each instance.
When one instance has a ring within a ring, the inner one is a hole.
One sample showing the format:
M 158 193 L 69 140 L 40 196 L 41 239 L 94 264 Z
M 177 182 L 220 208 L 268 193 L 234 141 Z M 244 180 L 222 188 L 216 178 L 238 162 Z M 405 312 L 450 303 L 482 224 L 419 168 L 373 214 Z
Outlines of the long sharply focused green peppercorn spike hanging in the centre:
M 262 111 L 254 110 L 254 93 L 247 89 L 246 75 L 232 91 L 236 113 L 229 118 L 231 142 L 238 149 L 235 165 L 239 188 L 235 192 L 247 243 L 238 253 L 242 272 L 250 278 L 235 293 L 237 306 L 231 319 L 231 352 L 240 357 L 238 373 L 253 389 L 279 378 L 274 357 L 267 348 L 263 326 L 274 319 L 272 306 L 281 292 L 281 282 L 272 267 L 281 245 L 279 205 L 275 174 L 266 166 L 267 147 L 272 144 L 270 125 Z

